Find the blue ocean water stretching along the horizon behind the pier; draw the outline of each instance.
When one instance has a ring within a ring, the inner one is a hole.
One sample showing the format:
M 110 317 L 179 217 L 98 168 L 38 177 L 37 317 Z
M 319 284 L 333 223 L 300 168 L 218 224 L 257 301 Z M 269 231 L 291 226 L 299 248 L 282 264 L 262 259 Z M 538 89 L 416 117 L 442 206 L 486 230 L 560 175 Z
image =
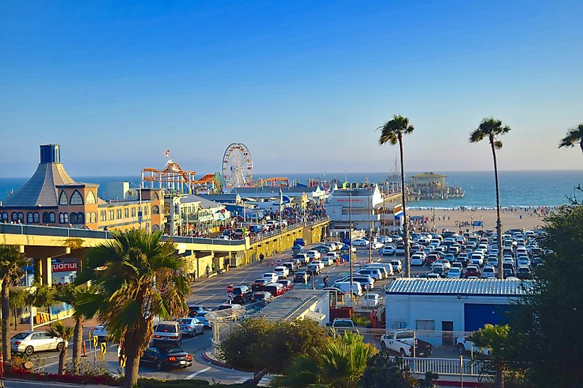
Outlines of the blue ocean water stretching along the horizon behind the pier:
M 417 172 L 408 172 L 407 176 Z M 446 183 L 458 185 L 465 190 L 464 198 L 435 201 L 437 208 L 454 207 L 495 207 L 496 196 L 494 173 L 481 172 L 442 172 L 447 176 Z M 371 182 L 380 182 L 388 174 L 383 172 L 336 172 L 322 174 L 255 174 L 253 178 L 268 178 L 270 176 L 287 176 L 292 182 L 307 183 L 310 178 L 331 180 L 338 178 L 350 182 L 363 182 L 368 178 Z M 139 176 L 74 176 L 78 182 L 99 183 L 105 187 L 108 182 L 130 181 L 139 183 Z M 28 178 L 0 178 L 0 198 L 5 197 L 10 190 L 17 190 Z M 576 195 L 574 187 L 583 185 L 583 170 L 569 171 L 502 171 L 500 172 L 500 202 L 504 207 L 538 207 L 558 206 L 569 202 L 568 196 Z M 581 193 L 583 194 L 583 193 Z M 583 195 L 580 195 L 582 197 Z M 433 207 L 433 201 L 417 201 L 408 203 L 408 207 Z

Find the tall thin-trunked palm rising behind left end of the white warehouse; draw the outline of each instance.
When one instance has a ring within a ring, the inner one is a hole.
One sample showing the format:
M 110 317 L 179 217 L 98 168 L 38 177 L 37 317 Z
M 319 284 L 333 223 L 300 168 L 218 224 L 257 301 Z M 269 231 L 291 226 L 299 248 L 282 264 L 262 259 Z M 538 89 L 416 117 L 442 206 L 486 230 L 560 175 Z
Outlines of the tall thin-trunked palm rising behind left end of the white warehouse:
M 411 257 L 409 254 L 409 223 L 406 212 L 406 193 L 405 193 L 405 167 L 403 163 L 403 135 L 410 134 L 415 130 L 413 125 L 409 125 L 409 119 L 395 114 L 393 119 L 384 123 L 384 125 L 377 128 L 381 130 L 381 137 L 379 138 L 379 145 L 391 143 L 392 145 L 399 144 L 399 154 L 401 156 L 401 202 L 403 204 L 403 219 L 404 219 L 404 234 L 403 242 L 405 245 L 405 273 L 408 278 L 411 278 Z

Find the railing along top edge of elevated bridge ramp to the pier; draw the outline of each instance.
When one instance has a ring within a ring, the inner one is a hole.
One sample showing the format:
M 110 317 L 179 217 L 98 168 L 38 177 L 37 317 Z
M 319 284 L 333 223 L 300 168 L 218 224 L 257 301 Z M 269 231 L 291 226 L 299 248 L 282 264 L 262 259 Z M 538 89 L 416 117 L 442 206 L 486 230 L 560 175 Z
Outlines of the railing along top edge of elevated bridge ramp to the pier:
M 76 229 L 74 227 L 55 227 L 24 224 L 0 223 L 0 234 L 22 234 L 37 236 L 57 236 L 67 238 L 103 238 L 112 239 L 112 233 L 107 230 Z M 162 236 L 161 241 L 172 240 L 175 243 L 207 244 L 207 245 L 245 245 L 245 240 L 219 240 L 217 238 L 201 238 L 188 236 Z

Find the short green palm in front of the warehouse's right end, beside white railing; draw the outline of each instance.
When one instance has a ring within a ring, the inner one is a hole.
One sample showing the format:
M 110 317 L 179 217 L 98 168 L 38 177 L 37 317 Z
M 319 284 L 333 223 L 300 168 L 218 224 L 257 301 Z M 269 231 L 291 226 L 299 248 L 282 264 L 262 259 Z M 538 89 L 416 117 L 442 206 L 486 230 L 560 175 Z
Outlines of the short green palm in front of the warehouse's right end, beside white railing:
M 468 336 L 468 340 L 471 340 L 475 346 L 488 349 L 488 358 L 496 371 L 494 385 L 498 388 L 504 388 L 504 370 L 506 369 L 504 348 L 508 340 L 509 330 L 508 325 L 486 323 L 482 329 L 478 329 Z

